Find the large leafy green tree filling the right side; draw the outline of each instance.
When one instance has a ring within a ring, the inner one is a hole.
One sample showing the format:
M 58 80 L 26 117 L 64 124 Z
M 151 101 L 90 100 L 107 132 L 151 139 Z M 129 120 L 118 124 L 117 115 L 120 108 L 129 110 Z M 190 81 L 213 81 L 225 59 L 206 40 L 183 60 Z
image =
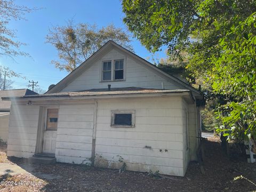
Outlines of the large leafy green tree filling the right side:
M 187 51 L 190 74 L 221 98 L 217 116 L 225 126 L 219 131 L 255 143 L 255 0 L 123 0 L 123 11 L 148 50 L 167 45 L 172 58 Z

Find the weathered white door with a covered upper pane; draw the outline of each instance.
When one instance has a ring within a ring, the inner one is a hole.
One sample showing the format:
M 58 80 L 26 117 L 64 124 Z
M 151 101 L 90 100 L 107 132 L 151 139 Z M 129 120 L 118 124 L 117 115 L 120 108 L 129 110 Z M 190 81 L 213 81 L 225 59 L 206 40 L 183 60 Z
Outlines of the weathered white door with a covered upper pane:
M 57 125 L 58 125 L 58 109 L 47 109 L 46 123 L 43 137 L 43 153 L 55 154 Z

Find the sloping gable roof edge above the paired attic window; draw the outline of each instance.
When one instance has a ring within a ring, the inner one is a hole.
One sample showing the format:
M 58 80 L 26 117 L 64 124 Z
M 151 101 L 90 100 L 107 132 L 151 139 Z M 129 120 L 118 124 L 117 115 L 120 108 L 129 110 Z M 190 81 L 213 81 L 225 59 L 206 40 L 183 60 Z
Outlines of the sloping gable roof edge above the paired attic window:
M 190 86 L 189 84 L 181 81 L 179 78 L 174 77 L 170 74 L 165 73 L 164 71 L 162 71 L 161 69 L 159 69 L 158 67 L 156 67 L 155 65 L 153 65 L 152 63 L 148 62 L 147 60 L 139 57 L 137 54 L 125 49 L 124 47 L 122 47 L 121 45 L 118 45 L 117 43 L 113 42 L 113 41 L 108 41 L 105 45 L 103 45 L 102 47 L 100 47 L 100 49 L 95 52 L 94 54 L 91 55 L 90 58 L 88 58 L 86 61 L 84 61 L 80 66 L 78 66 L 75 70 L 73 70 L 69 75 L 67 75 L 65 78 L 63 78 L 59 83 L 57 83 L 55 86 L 52 87 L 52 89 L 48 90 L 46 92 L 47 93 L 57 93 L 60 92 L 62 89 L 64 89 L 70 82 L 72 82 L 75 78 L 77 78 L 79 75 L 81 75 L 87 68 L 91 67 L 94 63 L 94 61 L 97 61 L 98 58 L 102 55 L 102 54 L 106 54 L 110 49 L 116 48 L 118 49 L 118 51 L 122 51 L 124 53 L 126 53 L 127 55 L 130 55 L 130 57 L 132 57 L 135 60 L 140 61 L 140 63 L 142 63 L 142 65 L 144 65 L 145 67 L 154 70 L 155 73 L 157 73 L 159 76 L 162 76 L 163 78 L 165 78 L 167 81 L 171 81 L 174 82 L 194 93 L 196 93 L 197 96 L 202 97 L 203 93 L 197 89 L 195 89 L 194 87 Z

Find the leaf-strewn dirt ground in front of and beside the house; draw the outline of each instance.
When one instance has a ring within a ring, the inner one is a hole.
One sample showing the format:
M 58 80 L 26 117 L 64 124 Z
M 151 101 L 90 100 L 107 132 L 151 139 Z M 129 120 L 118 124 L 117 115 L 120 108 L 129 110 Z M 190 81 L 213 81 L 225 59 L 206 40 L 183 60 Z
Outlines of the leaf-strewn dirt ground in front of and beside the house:
M 6 146 L 0 147 L 0 163 L 20 165 L 22 159 L 7 158 Z M 149 173 L 101 169 L 84 165 L 56 163 L 38 165 L 32 174 L 3 175 L 0 181 L 29 181 L 37 185 L 0 186 L 0 191 L 253 191 L 256 186 L 256 164 L 246 162 L 245 156 L 222 152 L 218 138 L 205 141 L 205 175 L 196 162 L 188 166 L 185 177 L 158 177 Z M 38 174 L 40 173 L 40 176 Z M 45 179 L 44 174 L 58 175 Z M 40 185 L 38 185 L 38 183 Z

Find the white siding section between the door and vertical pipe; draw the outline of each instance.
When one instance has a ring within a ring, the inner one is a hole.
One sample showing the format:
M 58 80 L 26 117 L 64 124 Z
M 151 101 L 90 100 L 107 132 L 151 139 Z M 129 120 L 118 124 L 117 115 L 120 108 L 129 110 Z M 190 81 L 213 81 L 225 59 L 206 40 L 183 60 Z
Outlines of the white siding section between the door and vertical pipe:
M 91 163 L 94 102 L 60 105 L 55 157 L 58 162 Z

